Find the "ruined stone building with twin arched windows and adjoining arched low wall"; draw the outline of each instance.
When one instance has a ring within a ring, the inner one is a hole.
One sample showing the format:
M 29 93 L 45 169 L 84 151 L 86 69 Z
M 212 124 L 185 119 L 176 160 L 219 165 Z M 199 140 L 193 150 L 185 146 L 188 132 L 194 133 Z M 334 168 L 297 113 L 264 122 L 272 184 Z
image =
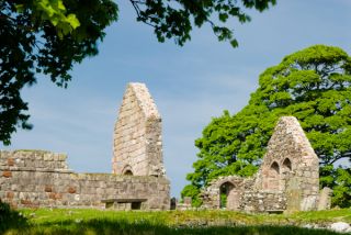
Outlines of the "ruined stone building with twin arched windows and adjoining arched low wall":
M 206 209 L 246 212 L 280 213 L 330 206 L 328 199 L 319 200 L 318 157 L 293 116 L 283 116 L 278 122 L 256 176 L 220 177 L 211 182 L 202 198 Z

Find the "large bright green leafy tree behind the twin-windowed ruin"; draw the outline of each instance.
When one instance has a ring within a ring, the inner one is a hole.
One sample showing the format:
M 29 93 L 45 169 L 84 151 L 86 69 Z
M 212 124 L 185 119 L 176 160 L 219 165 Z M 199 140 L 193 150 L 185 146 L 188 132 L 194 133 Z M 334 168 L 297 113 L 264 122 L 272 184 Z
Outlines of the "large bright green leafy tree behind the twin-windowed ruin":
M 183 195 L 218 176 L 253 175 L 280 116 L 294 115 L 320 159 L 320 184 L 333 188 L 333 204 L 351 205 L 351 58 L 338 47 L 316 45 L 286 56 L 260 75 L 249 104 L 215 118 L 195 141 L 200 149 Z M 338 165 L 343 163 L 343 167 Z

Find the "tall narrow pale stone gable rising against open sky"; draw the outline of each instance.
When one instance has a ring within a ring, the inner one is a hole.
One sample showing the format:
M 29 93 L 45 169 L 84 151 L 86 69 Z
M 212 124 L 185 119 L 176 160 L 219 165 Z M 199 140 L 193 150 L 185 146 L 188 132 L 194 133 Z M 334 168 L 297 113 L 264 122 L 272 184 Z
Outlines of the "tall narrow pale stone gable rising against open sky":
M 128 83 L 113 138 L 113 174 L 165 175 L 161 116 L 144 83 Z

